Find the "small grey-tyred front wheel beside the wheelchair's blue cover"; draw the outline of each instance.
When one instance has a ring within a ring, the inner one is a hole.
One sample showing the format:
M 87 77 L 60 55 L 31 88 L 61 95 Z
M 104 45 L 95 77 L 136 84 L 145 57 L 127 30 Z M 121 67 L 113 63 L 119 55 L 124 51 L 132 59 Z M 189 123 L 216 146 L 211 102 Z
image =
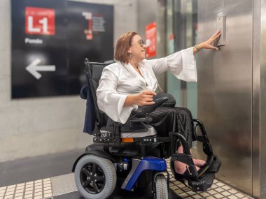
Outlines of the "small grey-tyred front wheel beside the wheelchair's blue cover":
M 165 175 L 157 175 L 154 179 L 155 192 L 153 194 L 155 199 L 168 199 L 167 179 Z

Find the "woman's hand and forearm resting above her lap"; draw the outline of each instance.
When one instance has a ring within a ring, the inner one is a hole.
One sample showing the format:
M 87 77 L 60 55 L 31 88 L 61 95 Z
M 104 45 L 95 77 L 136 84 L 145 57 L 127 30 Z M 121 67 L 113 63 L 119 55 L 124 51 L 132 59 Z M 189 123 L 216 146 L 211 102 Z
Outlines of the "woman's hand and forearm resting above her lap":
M 125 98 L 124 106 L 129 105 L 152 105 L 155 102 L 153 101 L 153 96 L 155 96 L 155 92 L 153 91 L 142 91 L 139 94 L 134 95 L 128 95 L 127 98 Z

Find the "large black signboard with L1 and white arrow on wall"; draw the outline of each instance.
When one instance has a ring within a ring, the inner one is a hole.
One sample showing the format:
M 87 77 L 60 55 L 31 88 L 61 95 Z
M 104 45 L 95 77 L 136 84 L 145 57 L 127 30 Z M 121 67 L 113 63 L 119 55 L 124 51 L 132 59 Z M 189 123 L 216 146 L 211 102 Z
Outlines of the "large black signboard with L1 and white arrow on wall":
M 113 59 L 113 6 L 12 0 L 12 98 L 78 94 L 85 57 Z

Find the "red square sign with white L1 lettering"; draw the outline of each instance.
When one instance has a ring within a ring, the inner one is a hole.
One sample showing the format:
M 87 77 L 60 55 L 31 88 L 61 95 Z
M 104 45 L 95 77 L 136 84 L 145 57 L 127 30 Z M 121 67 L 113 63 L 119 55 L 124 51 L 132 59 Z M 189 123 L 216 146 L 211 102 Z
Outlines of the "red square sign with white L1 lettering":
M 55 34 L 55 10 L 48 8 L 25 8 L 26 34 Z

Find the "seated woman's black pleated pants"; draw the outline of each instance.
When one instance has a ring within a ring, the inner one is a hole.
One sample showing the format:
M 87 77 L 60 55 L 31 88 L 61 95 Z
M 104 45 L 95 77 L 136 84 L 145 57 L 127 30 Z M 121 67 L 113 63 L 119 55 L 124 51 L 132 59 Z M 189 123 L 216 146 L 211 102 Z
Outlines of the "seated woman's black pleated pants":
M 192 114 L 188 108 L 160 106 L 150 115 L 153 118 L 151 125 L 160 135 L 167 137 L 169 132 L 181 133 L 186 138 L 188 147 L 192 147 L 194 125 Z

